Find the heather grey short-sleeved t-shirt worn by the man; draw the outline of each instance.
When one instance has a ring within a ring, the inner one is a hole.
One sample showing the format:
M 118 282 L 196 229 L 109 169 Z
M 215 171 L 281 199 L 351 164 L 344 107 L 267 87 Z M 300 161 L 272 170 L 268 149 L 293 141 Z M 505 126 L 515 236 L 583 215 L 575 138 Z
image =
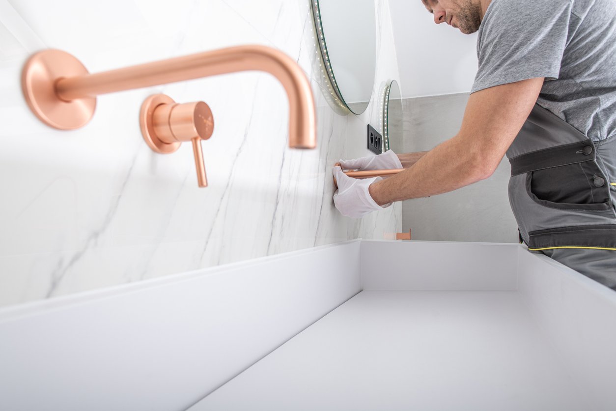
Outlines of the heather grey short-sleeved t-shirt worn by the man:
M 492 0 L 471 92 L 545 77 L 537 103 L 590 139 L 616 136 L 616 0 Z

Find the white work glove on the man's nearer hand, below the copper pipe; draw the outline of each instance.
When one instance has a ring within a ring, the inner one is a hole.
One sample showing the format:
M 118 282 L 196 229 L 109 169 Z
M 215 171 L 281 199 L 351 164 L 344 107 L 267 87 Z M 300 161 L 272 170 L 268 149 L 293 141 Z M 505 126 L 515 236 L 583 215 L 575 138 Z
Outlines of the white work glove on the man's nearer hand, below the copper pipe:
M 338 182 L 338 190 L 334 193 L 334 205 L 343 216 L 362 218 L 372 211 L 383 210 L 391 205 L 389 203 L 383 207 L 379 206 L 368 191 L 370 184 L 381 181 L 382 177 L 355 179 L 342 173 L 339 167 L 334 167 L 333 172 Z

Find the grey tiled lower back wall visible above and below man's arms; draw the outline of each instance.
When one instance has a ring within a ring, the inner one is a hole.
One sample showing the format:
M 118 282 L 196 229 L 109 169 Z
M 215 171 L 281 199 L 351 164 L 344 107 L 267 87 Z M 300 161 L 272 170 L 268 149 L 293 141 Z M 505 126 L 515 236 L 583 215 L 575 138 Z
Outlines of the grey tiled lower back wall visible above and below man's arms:
M 403 100 L 405 152 L 431 150 L 460 129 L 469 95 Z M 492 177 L 450 193 L 403 201 L 402 228 L 413 240 L 517 242 L 507 195 L 511 168 L 505 158 Z

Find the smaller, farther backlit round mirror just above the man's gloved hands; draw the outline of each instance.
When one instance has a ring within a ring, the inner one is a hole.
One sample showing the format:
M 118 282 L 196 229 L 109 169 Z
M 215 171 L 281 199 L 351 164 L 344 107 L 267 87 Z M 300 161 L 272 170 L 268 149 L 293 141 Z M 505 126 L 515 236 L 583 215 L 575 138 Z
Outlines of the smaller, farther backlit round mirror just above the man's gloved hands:
M 404 141 L 404 119 L 402 115 L 402 93 L 397 81 L 392 80 L 386 84 L 383 96 L 383 112 L 381 124 L 383 124 L 383 152 L 394 150 L 394 153 L 402 153 Z

